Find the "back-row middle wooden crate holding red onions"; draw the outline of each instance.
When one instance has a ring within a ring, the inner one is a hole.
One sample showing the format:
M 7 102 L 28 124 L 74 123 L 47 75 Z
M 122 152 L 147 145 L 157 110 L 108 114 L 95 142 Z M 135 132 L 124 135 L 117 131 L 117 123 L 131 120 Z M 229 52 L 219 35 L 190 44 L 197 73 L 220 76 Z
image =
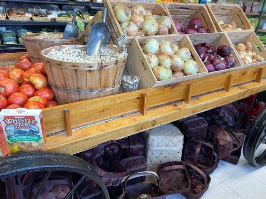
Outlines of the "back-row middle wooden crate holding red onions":
M 192 18 L 198 17 L 202 20 L 203 25 L 207 27 L 210 32 L 217 32 L 215 25 L 211 19 L 207 7 L 199 3 L 169 3 L 164 2 L 164 6 L 171 19 L 178 19 L 182 23 L 188 25 Z M 173 21 L 174 23 L 174 21 Z M 177 29 L 174 26 L 176 32 Z

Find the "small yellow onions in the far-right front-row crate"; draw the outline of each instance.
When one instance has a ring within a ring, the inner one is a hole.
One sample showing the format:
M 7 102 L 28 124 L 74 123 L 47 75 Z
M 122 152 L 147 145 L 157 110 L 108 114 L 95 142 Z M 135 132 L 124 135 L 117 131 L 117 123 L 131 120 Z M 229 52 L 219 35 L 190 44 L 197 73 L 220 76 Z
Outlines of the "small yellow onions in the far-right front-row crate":
M 245 65 L 264 61 L 264 57 L 259 54 L 257 55 L 257 53 L 253 51 L 253 45 L 249 41 L 238 43 L 236 49 Z

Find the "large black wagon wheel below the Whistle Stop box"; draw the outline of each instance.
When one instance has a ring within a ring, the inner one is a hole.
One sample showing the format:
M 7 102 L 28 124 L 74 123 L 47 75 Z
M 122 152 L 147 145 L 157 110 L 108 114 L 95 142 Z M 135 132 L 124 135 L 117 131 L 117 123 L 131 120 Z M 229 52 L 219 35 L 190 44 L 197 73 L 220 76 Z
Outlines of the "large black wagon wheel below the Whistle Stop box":
M 104 183 L 89 163 L 76 156 L 48 152 L 21 153 L 1 158 L 0 182 L 4 182 L 5 191 L 2 191 L 2 194 L 0 194 L 0 199 L 20 199 L 17 198 L 17 196 L 14 196 L 14 187 L 16 187 L 16 189 L 17 187 L 23 188 L 22 199 L 28 199 L 29 190 L 25 190 L 25 187 L 23 186 L 13 186 L 13 184 L 11 184 L 11 180 L 14 178 L 15 183 L 19 184 L 20 182 L 18 182 L 18 177 L 25 176 L 26 174 L 34 174 L 34 178 L 40 177 L 41 179 L 35 184 L 37 187 L 35 187 L 33 197 L 31 196 L 30 198 L 46 199 L 39 194 L 44 191 L 43 188 L 45 183 L 49 183 L 49 179 L 51 179 L 52 174 L 56 173 L 58 175 L 60 172 L 63 173 L 63 177 L 66 174 L 70 174 L 71 177 L 73 177 L 73 181 L 71 178 L 71 187 L 67 190 L 67 193 L 64 193 L 63 199 L 110 199 Z M 92 193 L 88 193 L 86 196 L 83 195 L 80 197 L 77 193 L 77 189 L 82 185 L 82 183 L 86 184 L 87 180 L 97 183 L 98 188 L 97 190 L 94 189 Z M 5 193 L 3 194 L 3 192 Z M 57 197 L 55 198 L 59 199 Z

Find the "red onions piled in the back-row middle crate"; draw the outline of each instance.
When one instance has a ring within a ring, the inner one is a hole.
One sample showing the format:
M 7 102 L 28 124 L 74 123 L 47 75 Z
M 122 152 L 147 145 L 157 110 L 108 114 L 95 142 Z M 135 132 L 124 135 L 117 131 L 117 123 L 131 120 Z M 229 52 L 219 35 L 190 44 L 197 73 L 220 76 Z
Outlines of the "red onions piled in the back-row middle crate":
M 197 33 L 209 33 L 207 27 L 203 27 L 202 20 L 200 18 L 193 18 L 188 25 L 183 24 L 180 20 L 173 19 L 176 29 L 181 34 L 197 34 Z

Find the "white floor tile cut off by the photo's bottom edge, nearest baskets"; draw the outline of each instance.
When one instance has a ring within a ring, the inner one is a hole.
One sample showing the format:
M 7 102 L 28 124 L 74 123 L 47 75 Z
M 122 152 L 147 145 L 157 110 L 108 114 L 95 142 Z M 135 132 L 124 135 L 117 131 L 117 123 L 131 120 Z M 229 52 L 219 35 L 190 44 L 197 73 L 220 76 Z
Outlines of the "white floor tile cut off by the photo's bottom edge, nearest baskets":
M 242 199 L 236 192 L 220 183 L 211 190 L 208 190 L 201 199 Z

